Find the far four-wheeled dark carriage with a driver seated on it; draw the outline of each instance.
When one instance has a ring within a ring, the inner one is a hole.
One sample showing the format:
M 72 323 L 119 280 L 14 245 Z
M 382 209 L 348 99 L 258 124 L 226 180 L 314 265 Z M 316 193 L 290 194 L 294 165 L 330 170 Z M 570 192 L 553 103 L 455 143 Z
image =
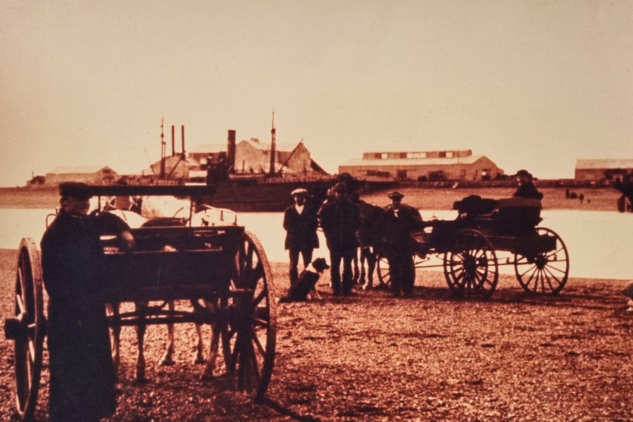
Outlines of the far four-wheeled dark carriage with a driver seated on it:
M 441 268 L 452 293 L 463 298 L 490 298 L 503 265 L 514 267 L 526 292 L 556 294 L 563 289 L 569 276 L 568 251 L 556 232 L 538 226 L 540 200 L 467 196 L 453 208 L 456 219 L 433 219 L 412 234 L 416 269 Z M 385 286 L 390 278 L 388 260 L 379 254 L 378 280 Z

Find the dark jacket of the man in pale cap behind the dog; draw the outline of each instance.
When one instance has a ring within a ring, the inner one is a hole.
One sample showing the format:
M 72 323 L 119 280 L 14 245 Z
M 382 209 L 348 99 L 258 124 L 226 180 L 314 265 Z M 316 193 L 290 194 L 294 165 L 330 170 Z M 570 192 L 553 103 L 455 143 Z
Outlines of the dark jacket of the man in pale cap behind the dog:
M 299 214 L 295 205 L 286 208 L 283 213 L 283 228 L 286 229 L 286 243 L 284 247 L 292 250 L 307 250 L 319 248 L 319 237 L 316 229 L 319 228 L 319 220 L 312 207 L 304 205 L 303 212 Z

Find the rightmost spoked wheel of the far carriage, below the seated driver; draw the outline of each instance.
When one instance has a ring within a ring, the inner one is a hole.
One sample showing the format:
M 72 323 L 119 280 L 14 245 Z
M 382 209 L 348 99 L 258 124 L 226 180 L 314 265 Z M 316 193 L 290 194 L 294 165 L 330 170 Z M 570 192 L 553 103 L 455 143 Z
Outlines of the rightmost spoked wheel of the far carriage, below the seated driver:
M 569 276 L 569 254 L 561 236 L 546 227 L 537 227 L 539 236 L 556 238 L 549 252 L 525 256 L 514 254 L 514 273 L 521 287 L 530 293 L 556 294 L 563 290 Z

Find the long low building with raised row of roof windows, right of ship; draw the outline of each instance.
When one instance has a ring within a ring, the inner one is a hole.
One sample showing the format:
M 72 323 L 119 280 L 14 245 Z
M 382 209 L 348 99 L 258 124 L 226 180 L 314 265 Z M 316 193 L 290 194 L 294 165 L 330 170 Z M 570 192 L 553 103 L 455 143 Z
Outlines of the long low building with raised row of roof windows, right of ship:
M 489 158 L 471 150 L 363 153 L 363 158 L 338 166 L 338 172 L 357 179 L 414 181 L 490 180 L 504 174 Z

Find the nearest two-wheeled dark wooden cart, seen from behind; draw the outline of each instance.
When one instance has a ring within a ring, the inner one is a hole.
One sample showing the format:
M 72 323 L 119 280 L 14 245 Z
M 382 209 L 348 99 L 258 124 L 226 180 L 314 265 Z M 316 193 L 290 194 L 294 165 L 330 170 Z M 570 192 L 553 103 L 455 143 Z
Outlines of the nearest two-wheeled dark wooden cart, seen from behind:
M 91 186 L 108 196 L 178 196 L 189 198 L 188 218 L 163 218 L 132 229 L 134 250 L 102 236 L 108 286 L 106 302 L 159 302 L 108 316 L 111 328 L 154 324 L 211 324 L 222 339 L 226 373 L 237 390 L 264 396 L 273 370 L 276 310 L 269 263 L 257 238 L 236 218 L 192 225 L 196 199 L 212 196 L 212 186 Z M 210 207 L 205 208 L 205 212 Z M 166 307 L 191 302 L 190 311 Z M 18 252 L 15 315 L 5 322 L 6 338 L 15 342 L 15 393 L 21 421 L 34 416 L 46 335 L 39 250 L 31 238 Z

